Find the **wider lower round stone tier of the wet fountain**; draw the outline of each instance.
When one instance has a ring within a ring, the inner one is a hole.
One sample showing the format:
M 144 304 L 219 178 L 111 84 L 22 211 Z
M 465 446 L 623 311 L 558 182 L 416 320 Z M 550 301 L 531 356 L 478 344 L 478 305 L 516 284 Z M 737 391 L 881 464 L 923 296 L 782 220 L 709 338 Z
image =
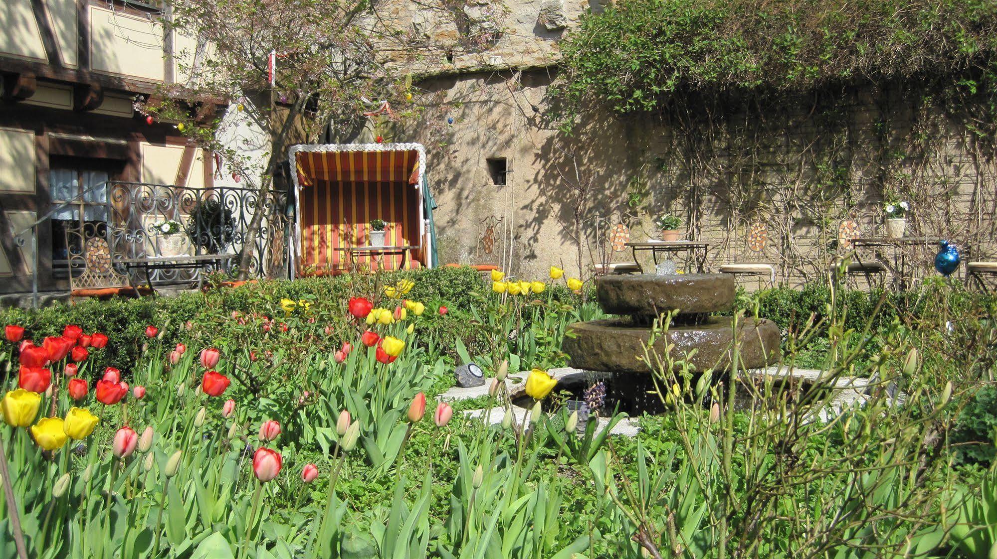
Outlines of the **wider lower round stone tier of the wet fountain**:
M 693 371 L 727 371 L 734 349 L 732 320 L 717 317 L 696 326 L 673 326 L 667 335 L 655 340 L 654 352 L 663 359 L 666 345 L 672 344 L 672 359 L 678 361 L 695 349 L 696 354 L 689 360 Z M 608 319 L 575 323 L 569 330 L 571 334 L 564 337 L 562 346 L 568 355 L 569 367 L 612 373 L 651 372 L 642 361 L 644 348 L 651 337 L 649 328 Z M 771 320 L 741 319 L 737 339 L 741 368 L 755 369 L 779 361 L 779 327 Z M 653 354 L 651 359 L 654 359 Z

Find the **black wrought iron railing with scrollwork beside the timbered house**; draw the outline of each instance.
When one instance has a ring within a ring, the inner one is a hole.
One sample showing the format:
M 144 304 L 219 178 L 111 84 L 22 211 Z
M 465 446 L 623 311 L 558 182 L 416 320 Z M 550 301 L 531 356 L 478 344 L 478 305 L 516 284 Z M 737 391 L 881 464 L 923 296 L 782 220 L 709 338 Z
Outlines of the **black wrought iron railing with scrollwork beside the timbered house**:
M 259 230 L 249 225 L 262 204 Z M 272 277 L 287 269 L 288 218 L 285 196 L 269 193 L 260 200 L 255 188 L 196 188 L 147 182 L 112 182 L 108 193 L 108 236 L 118 260 L 183 255 L 239 254 L 251 243 L 248 275 Z M 158 227 L 166 220 L 180 224 L 176 234 Z M 197 278 L 198 269 L 160 269 L 154 283 L 176 283 Z

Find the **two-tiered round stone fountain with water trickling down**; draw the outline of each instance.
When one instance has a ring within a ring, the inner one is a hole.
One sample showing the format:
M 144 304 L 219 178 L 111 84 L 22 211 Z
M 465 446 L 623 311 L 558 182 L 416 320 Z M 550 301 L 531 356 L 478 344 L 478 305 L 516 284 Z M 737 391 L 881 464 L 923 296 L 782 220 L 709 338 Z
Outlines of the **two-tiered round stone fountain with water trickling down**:
M 727 274 L 621 275 L 604 276 L 596 283 L 596 298 L 606 313 L 622 318 L 572 324 L 564 338 L 563 351 L 575 369 L 611 374 L 607 396 L 621 412 L 660 413 L 660 398 L 654 390 L 651 368 L 643 361 L 653 321 L 675 311 L 667 334 L 655 339 L 654 353 L 664 359 L 687 360 L 690 369 L 702 373 L 712 369 L 715 378 L 728 372 L 735 344 L 740 365 L 756 369 L 780 358 L 779 327 L 766 319 L 741 319 L 737 331 L 731 317 L 714 317 L 734 303 L 734 277 Z M 653 358 L 652 358 L 653 359 Z

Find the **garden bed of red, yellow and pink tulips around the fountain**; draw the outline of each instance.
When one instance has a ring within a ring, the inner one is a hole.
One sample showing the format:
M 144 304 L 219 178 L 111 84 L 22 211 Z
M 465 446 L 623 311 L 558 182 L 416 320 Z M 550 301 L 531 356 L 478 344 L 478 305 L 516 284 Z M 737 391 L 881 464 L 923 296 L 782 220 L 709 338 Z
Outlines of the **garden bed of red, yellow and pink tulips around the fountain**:
M 666 411 L 627 436 L 611 403 L 569 413 L 546 373 L 570 324 L 603 317 L 593 286 L 528 280 L 444 268 L 2 311 L 2 556 L 997 552 L 991 298 L 941 279 L 740 293 L 727 314 L 774 320 L 784 365 L 824 382 L 648 356 Z M 488 395 L 447 400 L 469 363 Z M 829 408 L 846 378 L 862 397 Z

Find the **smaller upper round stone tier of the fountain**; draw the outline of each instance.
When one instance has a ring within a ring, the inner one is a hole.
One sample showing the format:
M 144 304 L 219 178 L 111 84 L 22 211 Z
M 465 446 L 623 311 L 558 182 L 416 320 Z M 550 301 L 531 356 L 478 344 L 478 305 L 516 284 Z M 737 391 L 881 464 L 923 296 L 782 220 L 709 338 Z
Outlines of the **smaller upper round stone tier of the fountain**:
M 595 296 L 602 310 L 613 315 L 659 316 L 709 314 L 729 310 L 734 304 L 731 274 L 637 274 L 604 276 Z

